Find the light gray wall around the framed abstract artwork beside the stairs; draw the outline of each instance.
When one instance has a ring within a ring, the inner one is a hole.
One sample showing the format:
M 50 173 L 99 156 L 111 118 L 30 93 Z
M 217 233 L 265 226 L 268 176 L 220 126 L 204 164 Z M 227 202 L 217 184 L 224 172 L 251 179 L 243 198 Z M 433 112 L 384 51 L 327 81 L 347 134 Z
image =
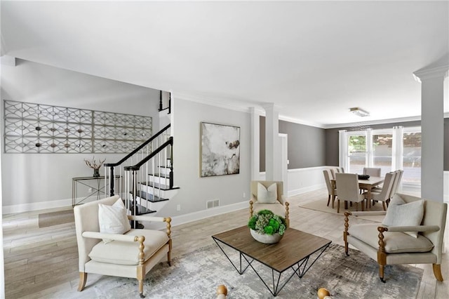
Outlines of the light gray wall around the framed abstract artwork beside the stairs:
M 173 95 L 173 172 L 179 192 L 161 210 L 171 216 L 206 210 L 206 201 L 220 199 L 220 206 L 244 202 L 250 190 L 250 114 L 183 100 Z M 240 127 L 240 173 L 201 178 L 200 124 L 227 124 Z M 245 193 L 246 197 L 243 197 Z M 181 211 L 176 206 L 181 205 Z M 213 210 L 213 209 L 210 209 Z M 215 208 L 217 210 L 217 208 Z M 213 211 L 206 211 L 211 215 Z M 176 224 L 176 223 L 173 223 Z

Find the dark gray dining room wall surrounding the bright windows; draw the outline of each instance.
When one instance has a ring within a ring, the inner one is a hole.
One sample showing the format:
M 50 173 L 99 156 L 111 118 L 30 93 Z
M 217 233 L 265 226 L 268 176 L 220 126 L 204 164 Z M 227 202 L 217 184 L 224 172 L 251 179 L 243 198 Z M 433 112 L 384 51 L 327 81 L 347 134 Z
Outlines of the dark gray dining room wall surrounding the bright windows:
M 402 123 L 378 124 L 370 128 L 393 128 L 394 126 L 421 126 L 421 121 L 406 121 Z M 338 131 L 354 131 L 354 127 L 330 128 L 326 130 L 326 165 L 338 166 Z M 449 171 L 449 119 L 444 119 L 444 170 Z

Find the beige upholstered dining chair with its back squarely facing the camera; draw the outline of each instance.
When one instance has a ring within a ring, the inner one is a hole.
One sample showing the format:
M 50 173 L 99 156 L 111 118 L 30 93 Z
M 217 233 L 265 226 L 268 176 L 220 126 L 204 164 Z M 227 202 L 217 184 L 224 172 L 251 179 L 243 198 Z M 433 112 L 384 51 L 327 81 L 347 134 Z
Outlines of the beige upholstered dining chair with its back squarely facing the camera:
M 356 203 L 356 211 L 358 211 L 358 203 L 365 200 L 364 194 L 358 193 L 358 175 L 356 173 L 335 173 L 335 184 L 337 187 L 337 213 L 340 213 L 340 199 L 342 201 L 350 201 Z

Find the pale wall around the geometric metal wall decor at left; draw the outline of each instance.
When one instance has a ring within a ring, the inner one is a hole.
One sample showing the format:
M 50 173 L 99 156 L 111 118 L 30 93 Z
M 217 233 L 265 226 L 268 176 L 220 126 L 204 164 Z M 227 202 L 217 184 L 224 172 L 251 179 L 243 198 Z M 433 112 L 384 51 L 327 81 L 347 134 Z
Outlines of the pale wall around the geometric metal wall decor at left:
M 159 131 L 159 91 L 35 62 L 1 65 L 1 100 L 93 109 L 153 117 Z M 1 102 L 1 124 L 4 124 Z M 1 136 L 4 128 L 1 126 Z M 2 137 L 3 138 L 3 137 Z M 93 171 L 83 159 L 93 154 L 4 154 L 1 148 L 3 213 L 72 203 L 72 178 Z M 114 162 L 123 154 L 96 154 Z M 103 168 L 101 169 L 101 171 Z

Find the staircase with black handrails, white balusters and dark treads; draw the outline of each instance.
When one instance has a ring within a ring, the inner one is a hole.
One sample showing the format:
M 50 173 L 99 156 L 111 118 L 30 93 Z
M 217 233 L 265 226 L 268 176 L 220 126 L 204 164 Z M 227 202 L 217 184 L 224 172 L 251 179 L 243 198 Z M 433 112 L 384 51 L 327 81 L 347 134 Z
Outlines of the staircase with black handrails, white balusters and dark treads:
M 169 107 L 163 107 L 163 102 Z M 161 92 L 159 113 L 167 112 L 170 113 L 170 100 L 163 101 Z M 105 164 L 105 168 L 107 195 L 119 194 L 126 199 L 126 208 L 132 215 L 157 214 L 179 189 L 173 184 L 170 124 L 120 161 Z M 119 186 L 114 185 L 114 175 L 119 175 Z

